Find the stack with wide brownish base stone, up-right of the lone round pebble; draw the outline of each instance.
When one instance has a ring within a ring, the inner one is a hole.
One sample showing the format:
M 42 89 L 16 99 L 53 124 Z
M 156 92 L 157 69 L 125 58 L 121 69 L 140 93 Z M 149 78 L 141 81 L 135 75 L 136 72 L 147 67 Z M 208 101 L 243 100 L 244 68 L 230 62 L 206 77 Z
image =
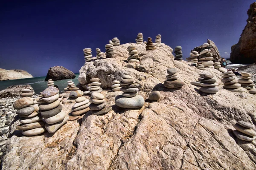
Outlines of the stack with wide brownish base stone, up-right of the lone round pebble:
M 179 79 L 176 68 L 168 68 L 167 69 L 166 81 L 163 85 L 166 88 L 181 88 L 185 83 Z

